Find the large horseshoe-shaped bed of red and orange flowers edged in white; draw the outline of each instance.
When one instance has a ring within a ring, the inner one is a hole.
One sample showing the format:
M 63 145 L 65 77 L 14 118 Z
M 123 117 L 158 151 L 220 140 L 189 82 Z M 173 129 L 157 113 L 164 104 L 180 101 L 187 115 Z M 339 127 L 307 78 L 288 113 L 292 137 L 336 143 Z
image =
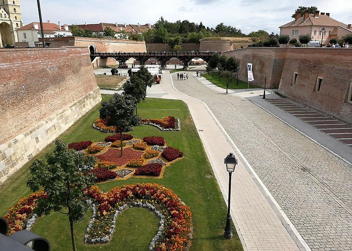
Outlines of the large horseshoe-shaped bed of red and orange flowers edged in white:
M 134 184 L 115 187 L 102 193 L 98 187 L 87 191 L 92 199 L 93 216 L 84 242 L 106 243 L 115 231 L 118 214 L 125 208 L 149 208 L 160 218 L 157 234 L 149 250 L 187 250 L 192 239 L 192 213 L 170 189 L 158 184 Z

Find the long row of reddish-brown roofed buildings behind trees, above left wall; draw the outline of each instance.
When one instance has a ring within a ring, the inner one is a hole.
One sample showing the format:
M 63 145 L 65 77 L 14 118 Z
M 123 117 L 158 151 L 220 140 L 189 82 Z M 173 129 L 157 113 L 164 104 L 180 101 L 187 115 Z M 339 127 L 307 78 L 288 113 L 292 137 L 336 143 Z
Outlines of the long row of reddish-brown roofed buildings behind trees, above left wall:
M 114 30 L 115 32 L 115 37 L 116 38 L 123 38 L 123 31 L 126 33 L 133 33 L 133 34 L 142 34 L 144 32 L 149 31 L 152 29 L 152 26 L 150 24 L 137 24 L 137 25 L 126 25 L 126 24 L 110 24 L 110 23 L 100 23 L 100 24 L 87 24 L 85 23 L 84 25 L 76 25 L 79 28 L 83 30 L 91 30 L 96 34 L 101 34 L 104 35 L 104 30 L 107 27 L 110 27 L 111 29 Z

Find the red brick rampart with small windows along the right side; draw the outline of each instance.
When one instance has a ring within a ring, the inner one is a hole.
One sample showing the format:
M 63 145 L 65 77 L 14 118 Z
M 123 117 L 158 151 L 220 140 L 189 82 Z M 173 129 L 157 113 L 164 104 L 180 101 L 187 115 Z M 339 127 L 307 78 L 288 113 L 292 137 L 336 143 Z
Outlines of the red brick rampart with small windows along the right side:
M 352 49 L 249 47 L 224 55 L 240 61 L 242 81 L 247 81 L 247 63 L 252 63 L 255 85 L 264 87 L 268 72 L 267 88 L 279 88 L 293 100 L 352 123 Z

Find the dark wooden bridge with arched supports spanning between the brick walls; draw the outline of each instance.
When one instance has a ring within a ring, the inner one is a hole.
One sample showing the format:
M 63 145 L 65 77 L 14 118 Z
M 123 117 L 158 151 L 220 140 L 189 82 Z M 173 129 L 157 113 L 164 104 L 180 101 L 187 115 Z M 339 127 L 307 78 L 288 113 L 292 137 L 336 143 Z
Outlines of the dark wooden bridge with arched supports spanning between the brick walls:
M 144 65 L 148 59 L 155 58 L 161 67 L 165 67 L 168 60 L 177 58 L 182 61 L 184 68 L 187 68 L 193 58 L 201 58 L 208 62 L 214 54 L 216 52 L 96 52 L 91 53 L 91 59 L 93 61 L 95 57 L 114 58 L 120 65 L 124 65 L 128 59 L 134 58 L 140 65 Z

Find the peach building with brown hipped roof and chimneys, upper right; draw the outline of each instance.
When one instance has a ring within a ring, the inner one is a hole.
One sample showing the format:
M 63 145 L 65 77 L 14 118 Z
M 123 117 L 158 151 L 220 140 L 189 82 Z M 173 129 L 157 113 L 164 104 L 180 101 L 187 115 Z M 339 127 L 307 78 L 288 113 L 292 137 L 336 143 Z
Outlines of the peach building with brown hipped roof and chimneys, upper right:
M 296 19 L 286 25 L 280 26 L 280 35 L 290 35 L 290 39 L 300 35 L 309 34 L 313 41 L 323 39 L 323 44 L 329 44 L 333 38 L 342 38 L 347 34 L 352 34 L 351 25 L 346 25 L 330 18 L 330 13 L 320 13 L 315 11 L 314 14 L 305 13 L 301 17 L 296 13 Z M 321 34 L 321 29 L 325 28 L 325 33 Z

